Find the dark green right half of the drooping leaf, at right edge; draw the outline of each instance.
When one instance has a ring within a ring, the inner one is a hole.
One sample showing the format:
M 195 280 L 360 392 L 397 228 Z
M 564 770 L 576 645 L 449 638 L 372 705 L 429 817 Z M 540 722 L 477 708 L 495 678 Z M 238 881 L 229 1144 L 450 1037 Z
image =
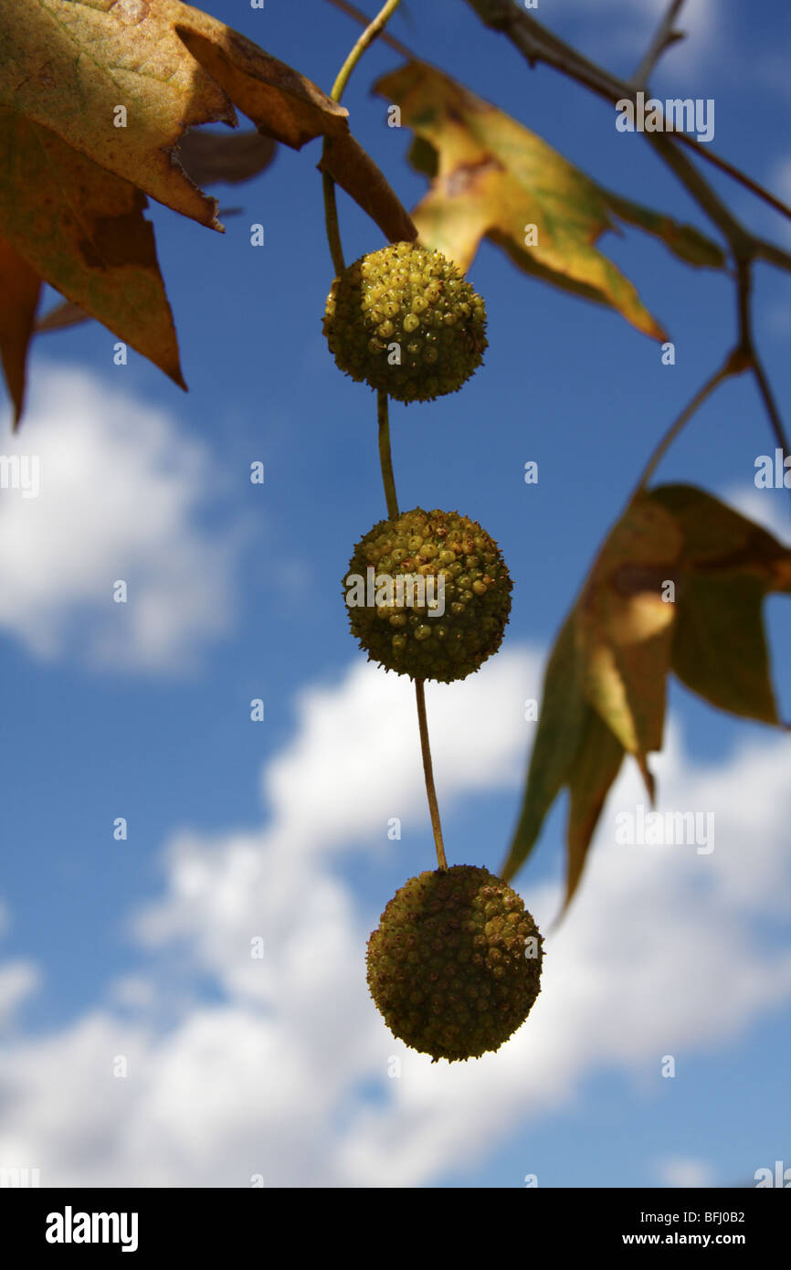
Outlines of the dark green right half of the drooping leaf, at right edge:
M 720 710 L 777 724 L 763 601 L 791 593 L 791 549 L 702 489 L 650 495 L 684 538 L 673 671 Z

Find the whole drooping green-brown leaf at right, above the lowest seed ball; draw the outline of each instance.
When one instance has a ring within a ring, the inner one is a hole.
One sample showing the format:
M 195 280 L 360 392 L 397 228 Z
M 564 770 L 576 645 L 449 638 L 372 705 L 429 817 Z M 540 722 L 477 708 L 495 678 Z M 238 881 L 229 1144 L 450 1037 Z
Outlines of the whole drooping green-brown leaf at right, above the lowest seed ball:
M 623 756 L 661 748 L 673 671 L 712 705 L 778 724 L 763 629 L 769 592 L 791 594 L 791 547 L 691 485 L 640 494 L 607 536 L 547 663 L 536 740 L 502 876 L 533 850 L 565 787 L 566 897 L 579 884 Z

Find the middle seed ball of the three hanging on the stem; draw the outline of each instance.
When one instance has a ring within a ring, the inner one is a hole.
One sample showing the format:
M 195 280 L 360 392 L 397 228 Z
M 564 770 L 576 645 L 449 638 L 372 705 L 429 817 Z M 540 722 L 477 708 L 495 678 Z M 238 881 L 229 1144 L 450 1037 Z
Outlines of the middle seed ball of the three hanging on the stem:
M 389 671 L 449 683 L 496 653 L 510 612 L 502 552 L 475 521 L 420 507 L 380 521 L 344 578 L 352 634 Z

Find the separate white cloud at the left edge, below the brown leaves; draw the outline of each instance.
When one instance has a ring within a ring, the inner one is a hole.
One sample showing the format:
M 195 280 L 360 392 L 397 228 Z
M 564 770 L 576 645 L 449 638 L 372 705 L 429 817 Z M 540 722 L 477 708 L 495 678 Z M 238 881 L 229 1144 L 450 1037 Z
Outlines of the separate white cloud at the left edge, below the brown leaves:
M 37 458 L 41 488 L 0 489 L 0 630 L 37 657 L 150 669 L 189 667 L 227 631 L 239 535 L 201 526 L 220 479 L 166 413 L 42 368 L 3 446 Z M 118 579 L 127 603 L 113 601 Z

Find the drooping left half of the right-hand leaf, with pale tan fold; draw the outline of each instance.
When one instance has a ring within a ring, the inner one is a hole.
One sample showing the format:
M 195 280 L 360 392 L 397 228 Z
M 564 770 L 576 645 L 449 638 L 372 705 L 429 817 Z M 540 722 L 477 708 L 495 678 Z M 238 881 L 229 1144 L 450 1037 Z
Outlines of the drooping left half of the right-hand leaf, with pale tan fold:
M 547 668 L 522 814 L 503 876 L 535 846 L 564 786 L 568 906 L 625 753 L 654 796 L 648 754 L 661 748 L 675 606 L 663 598 L 682 552 L 674 517 L 635 499 L 604 541 Z

